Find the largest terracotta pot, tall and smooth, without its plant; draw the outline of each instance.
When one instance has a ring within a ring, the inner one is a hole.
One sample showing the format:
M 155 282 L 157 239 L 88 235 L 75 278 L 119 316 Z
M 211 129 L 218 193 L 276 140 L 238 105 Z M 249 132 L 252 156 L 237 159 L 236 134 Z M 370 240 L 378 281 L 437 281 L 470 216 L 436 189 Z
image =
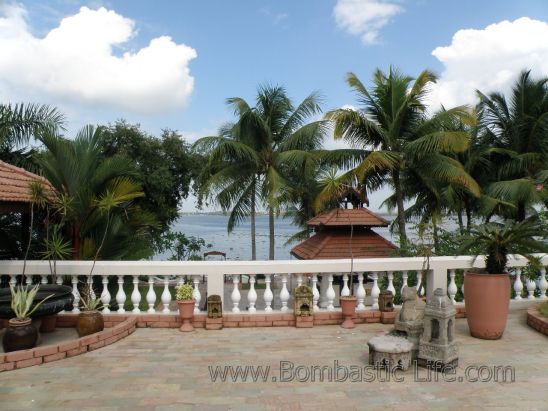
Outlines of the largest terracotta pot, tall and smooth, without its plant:
M 466 273 L 464 296 L 472 337 L 484 340 L 502 337 L 510 305 L 508 274 Z

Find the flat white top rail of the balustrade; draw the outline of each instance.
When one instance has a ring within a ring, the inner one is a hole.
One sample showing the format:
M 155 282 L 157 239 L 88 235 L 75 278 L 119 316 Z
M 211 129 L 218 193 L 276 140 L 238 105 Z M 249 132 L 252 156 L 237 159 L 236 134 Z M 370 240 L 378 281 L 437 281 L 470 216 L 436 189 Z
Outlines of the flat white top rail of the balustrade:
M 548 265 L 547 255 L 537 255 Z M 59 275 L 87 275 L 92 261 L 58 261 Z M 355 272 L 405 271 L 425 268 L 423 257 L 357 258 Z M 527 260 L 520 256 L 509 257 L 509 267 L 521 267 Z M 483 256 L 431 257 L 431 270 L 458 269 L 484 266 Z M 222 275 L 222 274 L 293 274 L 350 272 L 351 260 L 274 260 L 274 261 L 97 261 L 94 275 Z M 0 274 L 21 274 L 23 261 L 0 260 Z M 26 274 L 47 274 L 48 261 L 27 261 Z

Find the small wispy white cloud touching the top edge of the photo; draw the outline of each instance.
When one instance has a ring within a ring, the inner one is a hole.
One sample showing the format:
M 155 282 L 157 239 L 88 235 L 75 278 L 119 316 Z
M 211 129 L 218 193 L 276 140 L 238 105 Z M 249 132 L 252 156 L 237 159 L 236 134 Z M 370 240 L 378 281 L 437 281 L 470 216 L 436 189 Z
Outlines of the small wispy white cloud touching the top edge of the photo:
M 375 44 L 379 31 L 403 8 L 386 0 L 338 0 L 333 15 L 339 27 L 360 36 L 366 45 Z

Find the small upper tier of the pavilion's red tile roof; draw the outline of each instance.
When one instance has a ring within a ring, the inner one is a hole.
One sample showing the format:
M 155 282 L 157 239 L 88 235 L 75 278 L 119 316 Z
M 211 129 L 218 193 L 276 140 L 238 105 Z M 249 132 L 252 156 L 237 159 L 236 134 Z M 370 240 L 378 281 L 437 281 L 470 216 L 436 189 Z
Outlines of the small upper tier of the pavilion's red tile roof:
M 307 222 L 310 226 L 326 226 L 326 227 L 387 227 L 389 222 L 367 208 L 334 208 L 320 214 Z

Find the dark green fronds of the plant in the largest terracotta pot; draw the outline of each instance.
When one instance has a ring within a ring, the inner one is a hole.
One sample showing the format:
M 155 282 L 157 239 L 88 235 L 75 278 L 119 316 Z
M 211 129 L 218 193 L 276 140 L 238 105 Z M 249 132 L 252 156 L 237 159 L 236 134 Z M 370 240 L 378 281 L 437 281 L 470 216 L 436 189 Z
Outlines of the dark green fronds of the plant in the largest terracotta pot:
M 473 252 L 474 259 L 485 253 L 485 271 L 501 274 L 506 271 L 508 255 L 522 255 L 529 261 L 533 253 L 548 252 L 547 233 L 538 218 L 521 222 L 491 222 L 476 226 L 465 237 L 460 252 Z

